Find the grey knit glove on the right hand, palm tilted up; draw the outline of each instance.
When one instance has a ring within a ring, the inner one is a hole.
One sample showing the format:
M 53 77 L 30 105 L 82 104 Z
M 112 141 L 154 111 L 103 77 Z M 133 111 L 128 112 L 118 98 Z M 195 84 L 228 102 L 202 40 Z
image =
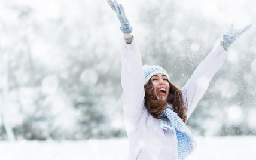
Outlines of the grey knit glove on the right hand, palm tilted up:
M 234 40 L 236 40 L 236 38 L 239 38 L 240 35 L 248 31 L 252 27 L 252 25 L 253 24 L 250 24 L 249 26 L 246 26 L 242 29 L 234 29 L 233 24 L 231 24 L 229 29 L 224 33 L 223 39 L 228 41 L 228 43 L 231 45 L 233 44 Z

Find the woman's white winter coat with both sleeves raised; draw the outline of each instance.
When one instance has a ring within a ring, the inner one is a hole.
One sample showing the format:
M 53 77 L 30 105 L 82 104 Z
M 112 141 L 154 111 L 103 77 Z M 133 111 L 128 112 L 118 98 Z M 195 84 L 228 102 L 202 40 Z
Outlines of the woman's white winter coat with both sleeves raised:
M 182 87 L 184 103 L 188 105 L 187 118 L 205 94 L 212 76 L 222 66 L 226 54 L 227 51 L 218 42 Z M 160 128 L 158 120 L 153 118 L 144 106 L 144 72 L 141 53 L 135 39 L 131 44 L 124 41 L 122 47 L 121 84 L 124 123 L 130 148 L 128 159 L 178 159 L 175 131 Z

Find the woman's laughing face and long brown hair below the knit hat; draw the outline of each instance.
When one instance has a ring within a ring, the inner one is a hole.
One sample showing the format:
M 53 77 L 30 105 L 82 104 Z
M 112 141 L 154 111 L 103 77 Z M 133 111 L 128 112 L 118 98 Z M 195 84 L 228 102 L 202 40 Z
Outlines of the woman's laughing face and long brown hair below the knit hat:
M 165 74 L 167 75 L 167 73 Z M 172 104 L 173 111 L 185 123 L 187 121 L 187 108 L 183 103 L 181 90 L 173 85 L 166 75 L 163 73 L 153 75 L 144 85 L 145 107 L 147 107 L 153 118 L 162 119 L 163 116 L 160 116 L 160 113 L 166 110 L 168 104 Z

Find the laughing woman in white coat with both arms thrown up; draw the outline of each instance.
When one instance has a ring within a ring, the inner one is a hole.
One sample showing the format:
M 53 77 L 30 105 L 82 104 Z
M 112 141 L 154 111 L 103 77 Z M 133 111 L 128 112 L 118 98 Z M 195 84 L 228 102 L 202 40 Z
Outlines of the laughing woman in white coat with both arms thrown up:
M 252 26 L 224 33 L 187 84 L 179 90 L 160 66 L 143 66 L 139 47 L 124 8 L 108 0 L 124 33 L 121 84 L 124 122 L 130 143 L 128 159 L 184 159 L 195 146 L 185 126 L 197 103 L 205 94 L 212 76 L 223 64 L 228 47 Z

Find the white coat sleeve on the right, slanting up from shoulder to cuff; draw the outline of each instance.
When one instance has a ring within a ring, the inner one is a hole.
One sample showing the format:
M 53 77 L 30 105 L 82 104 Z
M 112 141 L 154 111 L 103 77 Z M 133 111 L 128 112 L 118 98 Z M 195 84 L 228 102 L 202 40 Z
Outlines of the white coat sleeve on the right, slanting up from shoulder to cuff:
M 223 65 L 226 55 L 227 51 L 218 42 L 208 56 L 197 66 L 187 84 L 181 88 L 184 103 L 187 105 L 187 119 L 208 89 L 212 77 Z

